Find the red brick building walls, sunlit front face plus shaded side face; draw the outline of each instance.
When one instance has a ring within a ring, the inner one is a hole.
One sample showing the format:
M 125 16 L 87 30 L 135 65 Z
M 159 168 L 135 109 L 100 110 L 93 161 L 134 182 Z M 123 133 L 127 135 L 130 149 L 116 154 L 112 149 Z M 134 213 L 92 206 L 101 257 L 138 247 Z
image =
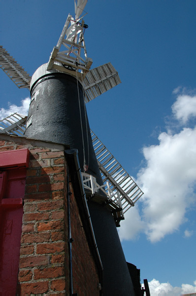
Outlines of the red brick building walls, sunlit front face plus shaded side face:
M 0 136 L 0 151 L 28 148 L 18 295 L 69 295 L 66 160 L 63 145 Z M 86 240 L 74 191 L 70 216 L 73 289 L 96 296 L 98 271 Z

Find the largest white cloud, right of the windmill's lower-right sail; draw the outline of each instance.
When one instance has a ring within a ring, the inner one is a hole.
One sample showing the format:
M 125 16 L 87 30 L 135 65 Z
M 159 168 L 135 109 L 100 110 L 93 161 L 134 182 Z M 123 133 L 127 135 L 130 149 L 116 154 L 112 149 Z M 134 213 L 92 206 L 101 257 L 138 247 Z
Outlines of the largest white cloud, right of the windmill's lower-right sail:
M 196 184 L 196 128 L 162 133 L 159 141 L 143 148 L 147 166 L 137 180 L 145 192 L 145 232 L 152 242 L 178 229 L 194 200 Z

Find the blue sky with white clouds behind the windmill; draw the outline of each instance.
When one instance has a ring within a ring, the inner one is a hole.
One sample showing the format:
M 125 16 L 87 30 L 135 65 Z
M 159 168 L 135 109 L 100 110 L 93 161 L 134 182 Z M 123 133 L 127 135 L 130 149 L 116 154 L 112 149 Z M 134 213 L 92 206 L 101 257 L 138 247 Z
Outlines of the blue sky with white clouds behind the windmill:
M 111 62 L 122 81 L 87 104 L 90 126 L 145 192 L 119 230 L 126 259 L 152 295 L 193 293 L 196 1 L 89 0 L 85 10 L 92 68 Z M 0 0 L 1 45 L 32 75 L 68 13 L 73 0 Z M 25 111 L 28 96 L 0 72 L 1 116 Z

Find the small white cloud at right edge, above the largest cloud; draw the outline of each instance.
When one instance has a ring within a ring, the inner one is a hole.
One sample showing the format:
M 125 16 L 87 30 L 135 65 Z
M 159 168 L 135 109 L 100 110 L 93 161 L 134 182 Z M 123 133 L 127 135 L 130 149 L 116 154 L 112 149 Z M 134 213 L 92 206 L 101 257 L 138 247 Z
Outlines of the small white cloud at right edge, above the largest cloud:
M 190 118 L 196 116 L 196 96 L 179 95 L 172 106 L 172 112 L 176 119 L 186 124 Z

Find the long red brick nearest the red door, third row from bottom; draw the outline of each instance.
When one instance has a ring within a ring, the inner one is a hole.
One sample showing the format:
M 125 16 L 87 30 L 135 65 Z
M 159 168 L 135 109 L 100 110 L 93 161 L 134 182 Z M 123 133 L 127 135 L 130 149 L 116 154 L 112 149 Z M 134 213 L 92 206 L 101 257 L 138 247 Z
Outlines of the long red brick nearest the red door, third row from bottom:
M 32 256 L 32 257 L 21 257 L 20 258 L 20 268 L 24 267 L 34 267 L 34 266 L 41 266 L 41 265 L 48 265 L 49 264 L 49 256 Z

